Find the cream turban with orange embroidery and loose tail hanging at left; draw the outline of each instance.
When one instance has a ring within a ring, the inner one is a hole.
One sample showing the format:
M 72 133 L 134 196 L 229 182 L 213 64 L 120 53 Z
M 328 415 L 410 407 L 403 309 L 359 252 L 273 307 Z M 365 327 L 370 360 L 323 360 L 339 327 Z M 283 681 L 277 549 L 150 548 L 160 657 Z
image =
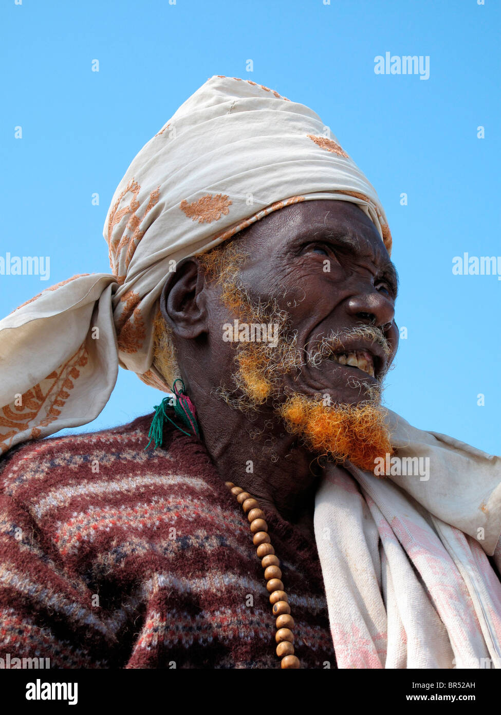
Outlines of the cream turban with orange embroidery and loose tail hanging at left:
M 119 365 L 170 391 L 152 365 L 169 270 L 310 199 L 358 204 L 391 250 L 374 188 L 317 114 L 250 80 L 207 80 L 145 144 L 111 199 L 111 275 L 76 275 L 0 321 L 0 451 L 94 420 Z

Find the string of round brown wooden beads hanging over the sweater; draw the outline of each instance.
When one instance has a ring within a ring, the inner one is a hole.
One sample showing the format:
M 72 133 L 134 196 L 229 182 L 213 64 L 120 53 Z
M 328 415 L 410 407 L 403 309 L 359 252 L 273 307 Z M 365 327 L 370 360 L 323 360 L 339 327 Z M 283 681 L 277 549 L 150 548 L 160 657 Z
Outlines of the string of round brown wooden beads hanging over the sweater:
M 269 538 L 268 525 L 264 521 L 264 511 L 259 508 L 259 503 L 252 495 L 240 487 L 236 487 L 232 482 L 225 482 L 231 493 L 237 497 L 237 502 L 250 522 L 250 529 L 254 534 L 252 539 L 254 546 L 257 546 L 257 556 L 262 559 L 261 565 L 264 568 L 264 578 L 267 581 L 266 588 L 269 593 L 269 602 L 273 606 L 273 615 L 277 616 L 277 656 L 282 659 L 282 668 L 300 668 L 301 664 L 297 656 L 294 656 L 294 618 L 290 615 L 289 598 L 284 591 L 284 584 L 280 580 L 282 571 L 279 568 L 279 560 L 275 556 L 275 550 Z

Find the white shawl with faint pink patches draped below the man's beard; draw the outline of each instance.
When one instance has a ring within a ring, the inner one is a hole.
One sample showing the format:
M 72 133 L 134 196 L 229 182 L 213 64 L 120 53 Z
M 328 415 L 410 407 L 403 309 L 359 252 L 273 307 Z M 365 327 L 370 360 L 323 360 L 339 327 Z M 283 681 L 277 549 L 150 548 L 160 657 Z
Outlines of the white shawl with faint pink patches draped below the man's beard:
M 349 465 L 316 495 L 338 666 L 500 668 L 501 584 L 486 554 L 501 533 L 501 459 L 388 416 L 395 457 L 429 458 L 427 480 Z

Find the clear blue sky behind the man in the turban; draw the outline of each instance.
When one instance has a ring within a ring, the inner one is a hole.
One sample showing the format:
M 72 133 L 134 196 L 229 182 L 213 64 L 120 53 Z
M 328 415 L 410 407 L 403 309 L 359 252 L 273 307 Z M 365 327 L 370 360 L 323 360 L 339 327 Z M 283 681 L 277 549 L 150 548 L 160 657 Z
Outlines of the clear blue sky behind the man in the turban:
M 49 255 L 51 274 L 0 275 L 0 315 L 109 272 L 104 220 L 139 149 L 212 75 L 252 79 L 312 107 L 385 207 L 408 334 L 387 406 L 500 453 L 501 280 L 452 275 L 464 252 L 501 256 L 500 2 L 324 1 L 3 0 L 0 255 Z M 386 51 L 430 56 L 430 79 L 374 74 Z M 99 418 L 64 433 L 163 397 L 120 370 Z

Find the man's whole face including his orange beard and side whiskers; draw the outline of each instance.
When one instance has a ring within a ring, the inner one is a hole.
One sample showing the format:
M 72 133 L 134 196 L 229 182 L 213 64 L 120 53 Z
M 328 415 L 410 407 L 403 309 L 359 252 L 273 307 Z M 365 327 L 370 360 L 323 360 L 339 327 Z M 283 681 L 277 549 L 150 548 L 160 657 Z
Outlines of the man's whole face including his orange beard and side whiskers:
M 309 453 L 338 463 L 372 470 L 391 453 L 381 391 L 397 350 L 397 278 L 356 204 L 292 204 L 199 263 L 208 279 L 199 347 L 220 397 L 254 410 L 257 433 L 284 438 L 285 424 Z M 264 340 L 241 332 L 266 324 Z

